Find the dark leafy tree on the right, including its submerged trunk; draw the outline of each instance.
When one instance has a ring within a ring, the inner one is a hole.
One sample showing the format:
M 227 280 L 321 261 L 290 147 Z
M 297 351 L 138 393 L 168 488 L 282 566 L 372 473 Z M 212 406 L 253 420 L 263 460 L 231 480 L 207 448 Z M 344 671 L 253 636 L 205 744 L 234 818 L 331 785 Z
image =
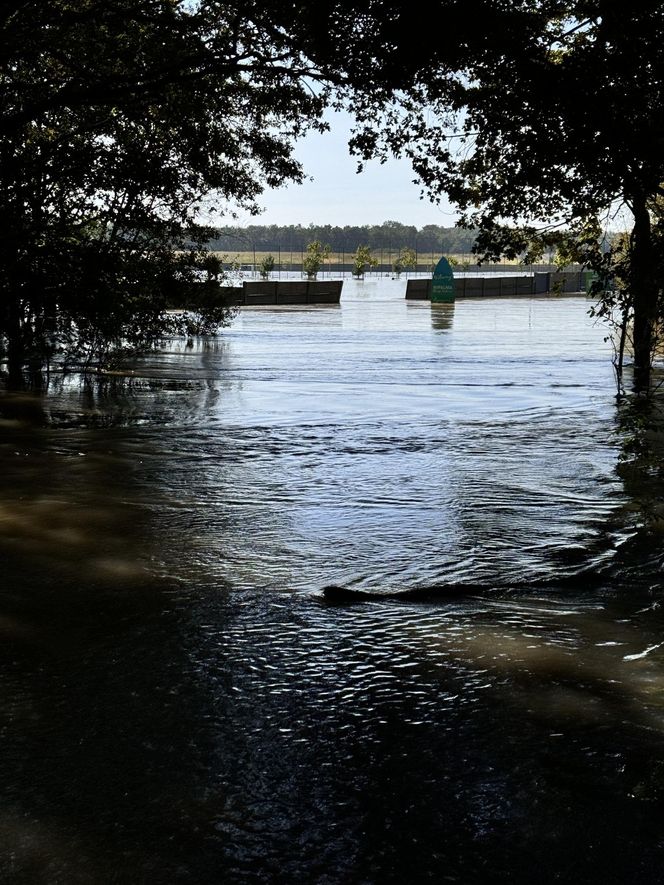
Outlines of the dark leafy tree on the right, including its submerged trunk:
M 464 224 L 479 230 L 475 248 L 485 259 L 521 256 L 543 230 L 557 228 L 576 237 L 591 266 L 604 266 L 588 230 L 626 205 L 635 385 L 645 389 L 661 312 L 654 225 L 664 181 L 664 4 L 492 5 L 493 12 L 464 4 L 468 17 L 478 16 L 473 35 L 460 4 L 441 2 L 456 48 L 440 57 L 418 46 L 418 61 L 407 29 L 392 35 L 390 51 L 400 61 L 406 53 L 412 82 L 391 95 L 376 88 L 376 78 L 387 87 L 389 67 L 365 72 L 354 148 L 362 159 L 409 157 L 430 195 L 447 193 Z M 405 8 L 390 8 L 386 27 L 394 28 Z

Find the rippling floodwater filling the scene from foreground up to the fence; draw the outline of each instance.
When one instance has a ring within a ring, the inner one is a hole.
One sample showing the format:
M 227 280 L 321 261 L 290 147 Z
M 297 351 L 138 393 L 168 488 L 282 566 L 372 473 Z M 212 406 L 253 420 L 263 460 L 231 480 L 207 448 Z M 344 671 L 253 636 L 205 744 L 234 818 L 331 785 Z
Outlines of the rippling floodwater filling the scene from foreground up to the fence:
M 345 291 L 3 422 L 1 882 L 664 882 L 661 440 L 604 330 Z

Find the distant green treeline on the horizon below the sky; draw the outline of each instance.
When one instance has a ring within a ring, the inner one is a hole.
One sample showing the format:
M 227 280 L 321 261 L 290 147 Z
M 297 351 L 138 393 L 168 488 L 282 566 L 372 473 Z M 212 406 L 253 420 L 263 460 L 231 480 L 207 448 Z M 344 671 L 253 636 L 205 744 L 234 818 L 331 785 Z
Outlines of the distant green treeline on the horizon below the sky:
M 347 227 L 329 224 L 310 224 L 308 227 L 300 224 L 252 224 L 247 227 L 218 228 L 218 236 L 211 241 L 210 247 L 219 252 L 246 252 L 250 249 L 275 253 L 279 250 L 300 252 L 314 240 L 329 245 L 333 252 L 352 253 L 362 245 L 374 251 L 398 251 L 410 247 L 417 252 L 461 255 L 471 252 L 475 233 L 436 224 L 417 228 L 397 221 Z

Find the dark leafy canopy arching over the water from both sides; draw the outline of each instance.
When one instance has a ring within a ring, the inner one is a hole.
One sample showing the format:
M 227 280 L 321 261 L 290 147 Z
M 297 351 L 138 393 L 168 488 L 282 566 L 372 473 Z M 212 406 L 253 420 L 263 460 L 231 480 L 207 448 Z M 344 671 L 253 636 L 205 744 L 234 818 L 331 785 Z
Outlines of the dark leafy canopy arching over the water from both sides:
M 522 254 L 558 224 L 606 269 L 597 225 L 626 204 L 647 384 L 664 3 L 9 0 L 0 34 L 0 334 L 14 374 L 53 352 L 157 340 L 169 290 L 201 268 L 215 277 L 200 219 L 255 211 L 263 187 L 300 179 L 293 142 L 325 128 L 331 104 L 355 112 L 360 160 L 408 157 L 487 256 Z

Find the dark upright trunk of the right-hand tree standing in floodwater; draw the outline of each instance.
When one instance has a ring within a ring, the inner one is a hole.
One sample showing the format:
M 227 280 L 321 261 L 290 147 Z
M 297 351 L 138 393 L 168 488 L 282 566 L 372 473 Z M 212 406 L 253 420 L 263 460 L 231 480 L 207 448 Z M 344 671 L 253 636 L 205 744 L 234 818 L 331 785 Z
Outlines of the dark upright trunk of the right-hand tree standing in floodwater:
M 632 201 L 632 212 L 630 288 L 634 305 L 634 389 L 644 393 L 650 386 L 657 288 L 652 279 L 652 232 L 645 197 Z

